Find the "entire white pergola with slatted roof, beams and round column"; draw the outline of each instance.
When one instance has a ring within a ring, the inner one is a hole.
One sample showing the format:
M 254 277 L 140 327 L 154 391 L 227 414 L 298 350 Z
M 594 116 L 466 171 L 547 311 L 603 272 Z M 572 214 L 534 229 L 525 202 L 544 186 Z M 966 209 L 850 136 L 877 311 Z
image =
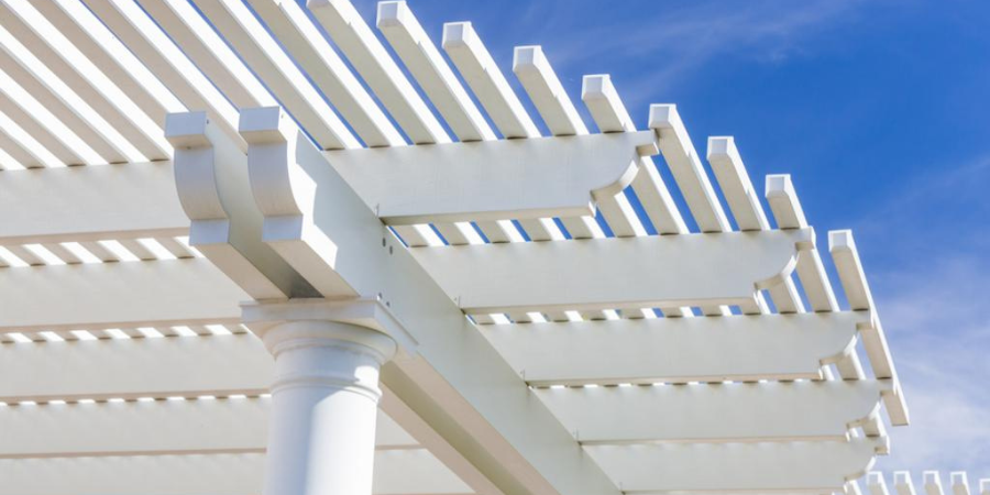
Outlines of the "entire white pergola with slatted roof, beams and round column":
M 405 1 L 0 2 L 0 495 L 849 494 L 909 421 L 851 232 L 844 309 L 674 105 Z

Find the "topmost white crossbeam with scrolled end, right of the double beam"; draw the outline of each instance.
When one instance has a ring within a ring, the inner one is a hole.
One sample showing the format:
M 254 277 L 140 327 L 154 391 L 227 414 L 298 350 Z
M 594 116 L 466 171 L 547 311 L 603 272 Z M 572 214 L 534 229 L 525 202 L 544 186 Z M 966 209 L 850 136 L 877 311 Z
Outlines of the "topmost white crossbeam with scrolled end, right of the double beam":
M 652 131 L 323 153 L 394 226 L 594 215 L 654 154 Z

